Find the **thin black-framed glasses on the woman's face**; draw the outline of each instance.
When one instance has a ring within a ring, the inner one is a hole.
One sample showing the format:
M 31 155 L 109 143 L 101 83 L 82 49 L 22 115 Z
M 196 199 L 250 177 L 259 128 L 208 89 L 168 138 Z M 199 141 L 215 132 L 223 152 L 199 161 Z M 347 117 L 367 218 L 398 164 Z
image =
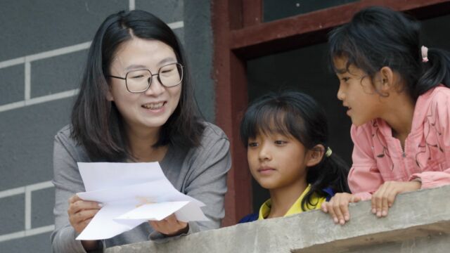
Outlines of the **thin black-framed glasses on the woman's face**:
M 183 75 L 183 65 L 180 63 L 170 63 L 160 67 L 158 74 L 152 74 L 150 70 L 142 69 L 127 72 L 125 77 L 116 77 L 113 75 L 108 75 L 108 77 L 125 80 L 127 91 L 131 93 L 140 93 L 147 91 L 148 88 L 150 88 L 152 79 L 155 76 L 162 86 L 173 87 L 181 84 Z

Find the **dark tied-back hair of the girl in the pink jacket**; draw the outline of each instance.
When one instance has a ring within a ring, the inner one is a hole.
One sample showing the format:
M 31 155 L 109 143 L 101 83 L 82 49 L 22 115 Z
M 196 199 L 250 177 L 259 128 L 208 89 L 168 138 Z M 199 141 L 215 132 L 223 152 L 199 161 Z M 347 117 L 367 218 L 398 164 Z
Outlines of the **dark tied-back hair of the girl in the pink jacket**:
M 373 79 L 382 67 L 398 72 L 406 91 L 417 100 L 438 84 L 450 86 L 450 54 L 429 48 L 427 63 L 420 53 L 420 23 L 389 8 L 373 6 L 356 13 L 352 20 L 328 36 L 330 64 L 335 57 L 364 70 Z

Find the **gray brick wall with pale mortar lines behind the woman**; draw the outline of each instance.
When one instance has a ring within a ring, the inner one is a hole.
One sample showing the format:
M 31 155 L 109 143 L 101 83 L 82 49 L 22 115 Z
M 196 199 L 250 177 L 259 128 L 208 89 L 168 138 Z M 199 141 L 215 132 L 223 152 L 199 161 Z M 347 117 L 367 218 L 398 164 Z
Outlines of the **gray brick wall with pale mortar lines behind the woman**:
M 129 8 L 150 11 L 171 25 L 192 64 L 200 108 L 214 120 L 209 0 L 2 1 L 1 252 L 51 251 L 53 136 L 69 123 L 98 25 Z

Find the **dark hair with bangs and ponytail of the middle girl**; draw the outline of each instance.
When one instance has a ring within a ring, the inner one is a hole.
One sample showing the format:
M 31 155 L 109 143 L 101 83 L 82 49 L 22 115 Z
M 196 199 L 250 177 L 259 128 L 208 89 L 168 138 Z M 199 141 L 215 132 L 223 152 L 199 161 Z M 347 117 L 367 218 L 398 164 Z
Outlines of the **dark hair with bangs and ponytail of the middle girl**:
M 293 136 L 308 150 L 321 144 L 328 148 L 328 125 L 326 115 L 316 101 L 304 93 L 285 91 L 270 93 L 257 99 L 240 123 L 240 138 L 248 145 L 249 138 L 259 134 L 283 134 Z M 307 183 L 311 190 L 302 200 L 302 209 L 314 206 L 314 193 L 325 196 L 325 188 L 332 188 L 335 193 L 347 192 L 347 175 L 349 166 L 334 153 L 330 157 L 323 155 L 319 164 L 307 170 Z

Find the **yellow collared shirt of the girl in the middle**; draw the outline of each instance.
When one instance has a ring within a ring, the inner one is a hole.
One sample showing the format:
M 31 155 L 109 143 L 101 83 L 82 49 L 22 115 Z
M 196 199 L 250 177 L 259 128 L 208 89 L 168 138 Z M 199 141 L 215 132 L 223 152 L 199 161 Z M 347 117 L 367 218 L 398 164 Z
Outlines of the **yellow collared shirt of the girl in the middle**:
M 288 212 L 283 217 L 290 216 L 293 214 L 300 214 L 303 212 L 302 200 L 303 200 L 304 196 L 307 195 L 307 193 L 309 192 L 310 189 L 311 189 L 311 184 L 309 184 L 308 187 L 306 189 L 304 189 L 302 195 L 300 195 L 300 197 L 298 197 L 298 199 L 295 200 L 295 203 L 289 208 Z M 311 203 L 313 203 L 313 204 L 317 203 L 317 205 L 309 205 L 309 203 L 307 202 L 305 209 L 306 209 L 306 211 L 320 209 L 322 203 L 325 201 L 326 201 L 326 197 L 319 197 L 318 195 L 313 194 L 311 196 Z M 266 219 L 266 217 L 269 216 L 271 205 L 272 205 L 271 199 L 267 200 L 266 202 L 264 202 L 264 204 L 262 204 L 261 208 L 259 208 L 258 220 Z

